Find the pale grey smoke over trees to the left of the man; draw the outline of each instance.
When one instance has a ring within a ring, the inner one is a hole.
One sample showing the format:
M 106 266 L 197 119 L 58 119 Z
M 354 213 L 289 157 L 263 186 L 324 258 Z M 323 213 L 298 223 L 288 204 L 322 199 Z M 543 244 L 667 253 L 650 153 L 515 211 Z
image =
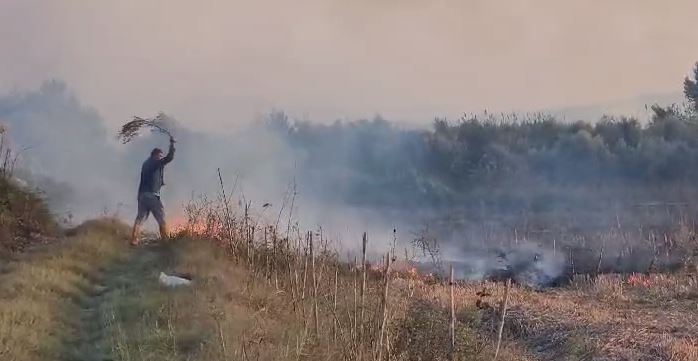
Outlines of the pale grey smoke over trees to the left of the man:
M 43 189 L 53 209 L 79 217 L 117 206 L 114 181 L 123 169 L 107 131 L 93 109 L 85 107 L 58 81 L 33 92 L 0 98 L 0 119 L 22 150 L 18 176 Z M 89 212 L 84 209 L 89 208 Z

